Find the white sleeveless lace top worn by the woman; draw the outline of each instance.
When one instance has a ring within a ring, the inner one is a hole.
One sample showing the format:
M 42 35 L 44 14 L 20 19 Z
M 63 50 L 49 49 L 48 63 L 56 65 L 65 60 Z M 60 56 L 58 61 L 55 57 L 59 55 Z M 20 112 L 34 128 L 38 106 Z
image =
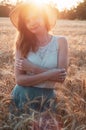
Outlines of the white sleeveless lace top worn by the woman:
M 37 52 L 29 52 L 27 55 L 27 59 L 32 63 L 41 66 L 43 68 L 57 68 L 57 58 L 58 58 L 58 37 L 53 36 L 51 41 L 43 46 L 39 47 Z M 28 75 L 32 75 L 32 73 L 28 73 Z M 39 88 L 54 88 L 54 81 L 45 81 L 43 83 L 39 83 L 34 85 Z

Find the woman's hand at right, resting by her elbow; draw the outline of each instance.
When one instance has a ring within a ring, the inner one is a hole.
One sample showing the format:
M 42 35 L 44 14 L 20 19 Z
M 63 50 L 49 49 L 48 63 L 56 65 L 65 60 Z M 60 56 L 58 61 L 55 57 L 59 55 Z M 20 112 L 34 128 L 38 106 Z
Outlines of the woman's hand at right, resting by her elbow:
M 54 75 L 53 77 L 50 78 L 50 80 L 63 83 L 67 75 L 67 72 L 65 71 L 65 69 L 54 69 L 53 72 L 54 72 Z

